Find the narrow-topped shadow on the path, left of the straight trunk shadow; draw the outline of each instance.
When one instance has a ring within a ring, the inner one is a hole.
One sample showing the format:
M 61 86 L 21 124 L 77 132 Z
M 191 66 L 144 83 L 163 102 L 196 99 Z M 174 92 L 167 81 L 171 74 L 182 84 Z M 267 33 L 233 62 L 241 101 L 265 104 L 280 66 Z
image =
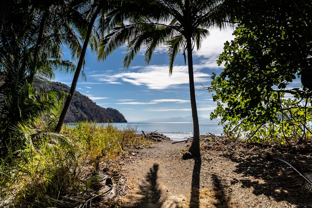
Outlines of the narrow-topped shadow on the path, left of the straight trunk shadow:
M 146 181 L 143 185 L 140 185 L 140 193 L 143 195 L 133 206 L 126 207 L 161 207 L 165 199 L 161 199 L 162 191 L 157 183 L 157 172 L 159 165 L 154 163 L 153 167 L 149 168 L 149 173 L 147 174 Z

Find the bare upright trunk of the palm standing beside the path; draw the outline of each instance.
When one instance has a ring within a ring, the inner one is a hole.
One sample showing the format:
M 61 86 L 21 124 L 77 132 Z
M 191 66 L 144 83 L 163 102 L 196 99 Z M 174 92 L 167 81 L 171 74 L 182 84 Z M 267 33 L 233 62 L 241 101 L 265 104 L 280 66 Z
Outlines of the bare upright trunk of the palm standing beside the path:
M 192 41 L 191 38 L 187 39 L 187 51 L 188 51 L 188 77 L 190 82 L 190 96 L 191 96 L 191 107 L 193 117 L 193 140 L 189 148 L 189 152 L 193 157 L 200 156 L 199 147 L 199 123 L 197 116 L 196 98 L 195 98 L 195 86 L 194 86 L 194 73 L 193 73 L 193 57 L 192 57 Z

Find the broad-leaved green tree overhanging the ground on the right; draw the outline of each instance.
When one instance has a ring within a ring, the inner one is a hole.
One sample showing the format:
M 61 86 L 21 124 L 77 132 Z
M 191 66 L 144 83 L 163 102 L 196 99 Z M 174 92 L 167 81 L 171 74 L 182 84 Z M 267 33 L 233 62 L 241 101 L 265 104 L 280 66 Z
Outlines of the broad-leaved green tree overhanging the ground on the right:
M 211 116 L 221 117 L 230 137 L 280 143 L 309 139 L 312 3 L 246 2 L 252 12 L 234 31 L 235 40 L 224 44 L 218 64 L 225 69 L 212 76 L 217 109 Z

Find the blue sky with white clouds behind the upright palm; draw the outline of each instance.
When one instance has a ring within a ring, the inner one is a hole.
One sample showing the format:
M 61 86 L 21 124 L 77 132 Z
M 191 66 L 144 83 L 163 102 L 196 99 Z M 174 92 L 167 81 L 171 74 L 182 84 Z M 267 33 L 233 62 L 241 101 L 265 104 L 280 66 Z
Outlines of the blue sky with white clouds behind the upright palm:
M 212 93 L 201 90 L 201 85 L 211 85 L 212 72 L 221 73 L 217 58 L 223 43 L 234 38 L 232 31 L 211 31 L 199 51 L 193 51 L 194 81 L 197 112 L 209 118 L 216 108 Z M 169 76 L 168 54 L 165 48 L 155 51 L 151 63 L 145 65 L 144 50 L 136 56 L 129 69 L 122 68 L 124 49 L 115 51 L 104 62 L 97 62 L 90 51 L 85 57 L 86 82 L 79 80 L 76 90 L 104 108 L 115 108 L 128 122 L 148 119 L 185 117 L 192 115 L 188 67 L 179 54 Z M 64 60 L 69 59 L 65 52 Z M 56 75 L 55 81 L 71 85 L 71 75 Z

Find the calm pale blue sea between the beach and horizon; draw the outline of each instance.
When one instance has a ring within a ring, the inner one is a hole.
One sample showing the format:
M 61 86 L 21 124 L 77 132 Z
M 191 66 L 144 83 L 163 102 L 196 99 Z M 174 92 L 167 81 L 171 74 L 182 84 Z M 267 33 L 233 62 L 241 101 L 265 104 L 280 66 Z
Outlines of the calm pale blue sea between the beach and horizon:
M 107 125 L 107 123 L 103 123 Z M 171 138 L 172 140 L 184 140 L 184 138 L 193 137 L 193 123 L 173 123 L 173 122 L 142 122 L 142 123 L 113 123 L 118 128 L 126 128 L 128 126 L 136 129 L 137 133 L 150 133 L 157 131 L 163 135 Z M 212 133 L 221 135 L 223 128 L 217 123 L 200 122 L 200 134 Z

